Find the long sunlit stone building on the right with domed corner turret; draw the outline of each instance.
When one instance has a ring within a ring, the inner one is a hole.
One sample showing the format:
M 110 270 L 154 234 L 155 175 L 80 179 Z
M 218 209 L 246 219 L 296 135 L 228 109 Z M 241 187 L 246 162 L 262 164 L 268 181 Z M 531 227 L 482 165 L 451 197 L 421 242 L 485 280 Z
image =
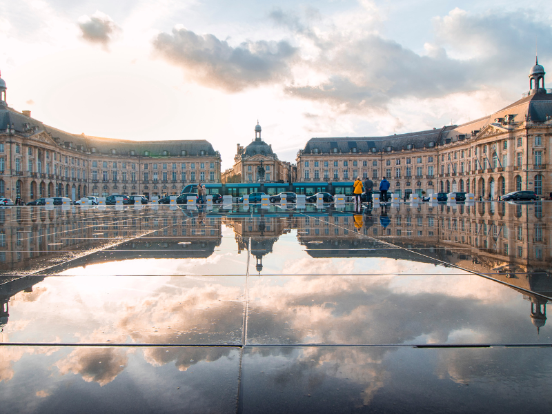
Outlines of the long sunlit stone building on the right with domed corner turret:
M 409 193 L 465 191 L 496 199 L 515 190 L 552 191 L 552 90 L 544 68 L 529 74 L 529 92 L 493 115 L 459 126 L 386 137 L 312 138 L 297 153 L 299 181 L 353 181 L 357 176 Z

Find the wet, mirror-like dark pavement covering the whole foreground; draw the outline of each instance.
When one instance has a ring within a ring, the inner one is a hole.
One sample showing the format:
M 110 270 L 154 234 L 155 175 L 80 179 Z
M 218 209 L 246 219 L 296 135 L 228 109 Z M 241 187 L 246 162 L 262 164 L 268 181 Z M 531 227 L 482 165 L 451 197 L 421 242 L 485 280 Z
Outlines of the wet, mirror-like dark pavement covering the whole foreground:
M 551 201 L 0 209 L 0 404 L 547 412 L 551 217 Z

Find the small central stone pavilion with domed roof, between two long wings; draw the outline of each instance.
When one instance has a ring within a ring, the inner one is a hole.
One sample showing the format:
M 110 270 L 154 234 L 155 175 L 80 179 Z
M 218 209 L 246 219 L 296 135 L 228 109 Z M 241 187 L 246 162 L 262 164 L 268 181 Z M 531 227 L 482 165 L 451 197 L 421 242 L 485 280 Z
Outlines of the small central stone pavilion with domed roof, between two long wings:
M 245 148 L 237 144 L 234 166 L 224 171 L 223 183 L 289 182 L 293 180 L 293 166 L 280 161 L 272 150 L 272 144 L 261 139 L 262 128 L 255 126 L 255 139 Z M 264 177 L 259 167 L 264 168 Z

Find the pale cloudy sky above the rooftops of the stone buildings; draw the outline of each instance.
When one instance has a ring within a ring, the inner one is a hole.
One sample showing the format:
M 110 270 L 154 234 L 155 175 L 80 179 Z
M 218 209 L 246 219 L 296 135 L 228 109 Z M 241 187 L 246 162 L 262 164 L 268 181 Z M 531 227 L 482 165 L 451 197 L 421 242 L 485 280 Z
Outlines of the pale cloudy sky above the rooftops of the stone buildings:
M 207 139 L 233 164 L 262 138 L 462 124 L 552 67 L 550 1 L 0 0 L 8 105 L 67 132 Z

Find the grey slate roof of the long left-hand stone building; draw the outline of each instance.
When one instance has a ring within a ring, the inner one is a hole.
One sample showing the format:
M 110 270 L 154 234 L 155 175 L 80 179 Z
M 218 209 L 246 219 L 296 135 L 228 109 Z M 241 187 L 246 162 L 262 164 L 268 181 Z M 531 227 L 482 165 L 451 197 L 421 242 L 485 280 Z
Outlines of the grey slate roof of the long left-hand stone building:
M 134 150 L 137 155 L 144 155 L 144 151 L 149 151 L 150 156 L 156 157 L 162 155 L 163 151 L 169 152 L 169 155 L 180 155 L 181 150 L 186 150 L 188 155 L 199 155 L 199 151 L 204 150 L 206 155 L 215 156 L 217 152 L 213 146 L 205 139 L 171 139 L 164 141 L 132 141 L 130 139 L 113 139 L 92 137 L 84 134 L 71 134 L 43 124 L 37 119 L 27 117 L 21 112 L 0 104 L 0 130 L 6 130 L 13 124 L 17 132 L 26 132 L 27 125 L 32 129 L 48 132 L 53 139 L 59 139 L 59 143 L 72 148 L 83 146 L 83 150 L 90 151 L 96 148 L 97 154 L 110 154 L 112 149 L 117 150 L 117 155 L 129 155 Z M 28 129 L 28 128 L 27 128 Z

